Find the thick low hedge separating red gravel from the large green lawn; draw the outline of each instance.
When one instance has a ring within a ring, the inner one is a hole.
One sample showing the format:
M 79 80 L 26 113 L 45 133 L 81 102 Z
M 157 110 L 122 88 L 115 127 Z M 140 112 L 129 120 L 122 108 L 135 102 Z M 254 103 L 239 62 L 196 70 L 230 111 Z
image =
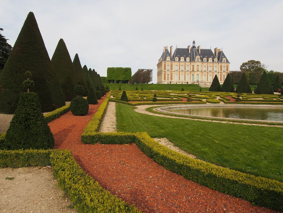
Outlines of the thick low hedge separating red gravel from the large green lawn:
M 241 197 L 256 205 L 283 210 L 283 183 L 192 159 L 154 141 L 147 133 L 93 133 L 89 144 L 135 142 L 141 151 L 166 169 L 211 189 Z

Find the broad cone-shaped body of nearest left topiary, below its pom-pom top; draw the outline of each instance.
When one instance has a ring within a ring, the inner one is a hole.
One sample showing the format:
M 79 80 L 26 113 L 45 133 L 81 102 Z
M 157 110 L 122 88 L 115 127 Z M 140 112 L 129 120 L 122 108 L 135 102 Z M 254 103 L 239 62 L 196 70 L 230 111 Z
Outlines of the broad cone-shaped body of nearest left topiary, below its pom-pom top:
M 21 93 L 1 149 L 53 148 L 54 138 L 43 117 L 36 93 Z

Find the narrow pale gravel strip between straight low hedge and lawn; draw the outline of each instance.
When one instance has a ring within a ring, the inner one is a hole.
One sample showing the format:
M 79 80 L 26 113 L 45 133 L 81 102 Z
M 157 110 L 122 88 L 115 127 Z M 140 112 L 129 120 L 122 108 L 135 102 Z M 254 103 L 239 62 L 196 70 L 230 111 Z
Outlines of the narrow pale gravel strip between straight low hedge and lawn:
M 116 104 L 109 101 L 100 125 L 100 132 L 116 132 Z

